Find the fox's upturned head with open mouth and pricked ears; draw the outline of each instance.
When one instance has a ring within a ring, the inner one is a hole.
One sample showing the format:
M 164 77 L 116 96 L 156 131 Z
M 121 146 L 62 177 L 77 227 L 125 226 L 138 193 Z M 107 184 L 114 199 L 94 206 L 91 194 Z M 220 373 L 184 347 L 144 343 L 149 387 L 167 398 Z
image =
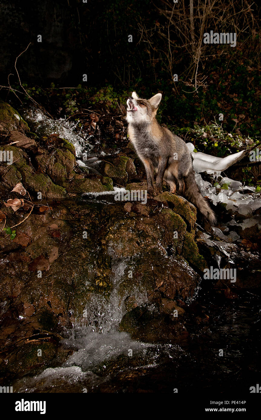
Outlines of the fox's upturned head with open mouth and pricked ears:
M 162 95 L 157 93 L 149 100 L 140 99 L 136 92 L 132 92 L 127 100 L 127 121 L 128 123 L 150 123 L 155 117 Z

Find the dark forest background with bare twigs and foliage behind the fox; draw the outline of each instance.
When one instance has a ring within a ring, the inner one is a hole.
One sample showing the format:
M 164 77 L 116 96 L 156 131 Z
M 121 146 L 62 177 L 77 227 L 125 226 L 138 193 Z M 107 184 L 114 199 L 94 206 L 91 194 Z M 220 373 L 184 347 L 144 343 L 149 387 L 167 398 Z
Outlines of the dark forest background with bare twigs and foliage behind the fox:
M 160 91 L 159 118 L 170 127 L 210 124 L 223 113 L 227 131 L 256 137 L 260 9 L 259 0 L 2 0 L 0 95 L 17 101 L 17 89 L 24 102 L 24 88 L 47 110 L 60 101 L 74 114 L 98 103 L 120 112 L 132 89 L 141 97 Z M 211 30 L 236 32 L 236 47 L 205 45 Z

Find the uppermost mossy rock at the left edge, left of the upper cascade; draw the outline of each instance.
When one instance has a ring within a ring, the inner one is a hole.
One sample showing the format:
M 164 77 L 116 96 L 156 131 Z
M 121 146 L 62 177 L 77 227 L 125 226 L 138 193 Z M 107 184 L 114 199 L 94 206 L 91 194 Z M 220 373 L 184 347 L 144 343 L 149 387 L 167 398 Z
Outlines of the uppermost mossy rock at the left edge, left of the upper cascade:
M 0 132 L 6 134 L 11 130 L 29 131 L 29 127 L 11 105 L 0 100 Z

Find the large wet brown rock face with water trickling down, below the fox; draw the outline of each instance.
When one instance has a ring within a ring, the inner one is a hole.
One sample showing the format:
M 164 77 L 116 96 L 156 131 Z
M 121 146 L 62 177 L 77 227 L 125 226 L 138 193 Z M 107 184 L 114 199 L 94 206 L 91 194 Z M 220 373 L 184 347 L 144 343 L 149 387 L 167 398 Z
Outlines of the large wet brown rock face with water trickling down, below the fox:
M 23 160 L 25 152 L 19 153 Z M 192 265 L 200 270 L 200 255 L 194 231 L 187 232 L 187 221 L 173 209 L 155 207 L 155 203 L 126 204 L 131 204 L 130 212 L 124 205 L 53 204 L 51 213 L 32 213 L 17 227 L 18 237 L 24 234 L 31 243 L 13 243 L 0 261 L 5 290 L 0 299 L 15 299 L 14 320 L 17 325 L 18 317 L 24 320 L 22 328 L 6 325 L 6 354 L 15 334 L 37 343 L 37 348 L 44 342 L 46 352 L 54 343 L 44 363 L 55 366 L 68 352 L 61 352 L 60 339 L 52 334 L 61 334 L 63 326 L 72 323 L 108 331 L 119 319 L 123 331 L 151 342 L 176 340 L 186 332 L 185 314 L 177 299 L 190 302 L 197 293 L 200 276 Z M 186 202 L 184 206 L 182 214 L 189 218 Z M 13 224 L 19 220 L 14 213 L 8 213 L 8 218 Z M 5 247 L 5 241 L 0 247 Z M 30 374 L 43 368 L 30 349 L 26 343 L 22 349 L 14 348 L 16 359 L 7 356 L 8 363 L 3 364 L 6 375 L 14 375 L 18 365 Z M 22 359 L 30 366 L 26 368 Z

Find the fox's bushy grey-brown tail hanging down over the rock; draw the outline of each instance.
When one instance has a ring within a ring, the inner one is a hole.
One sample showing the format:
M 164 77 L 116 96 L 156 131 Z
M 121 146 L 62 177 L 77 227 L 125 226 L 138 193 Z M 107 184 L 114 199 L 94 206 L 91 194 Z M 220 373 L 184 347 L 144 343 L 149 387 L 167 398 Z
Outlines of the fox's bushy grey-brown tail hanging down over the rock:
M 195 173 L 193 169 L 191 169 L 185 177 L 184 195 L 190 202 L 192 202 L 192 204 L 198 207 L 200 213 L 202 213 L 211 224 L 216 224 L 216 215 L 209 207 L 206 199 L 201 195 L 195 181 Z

